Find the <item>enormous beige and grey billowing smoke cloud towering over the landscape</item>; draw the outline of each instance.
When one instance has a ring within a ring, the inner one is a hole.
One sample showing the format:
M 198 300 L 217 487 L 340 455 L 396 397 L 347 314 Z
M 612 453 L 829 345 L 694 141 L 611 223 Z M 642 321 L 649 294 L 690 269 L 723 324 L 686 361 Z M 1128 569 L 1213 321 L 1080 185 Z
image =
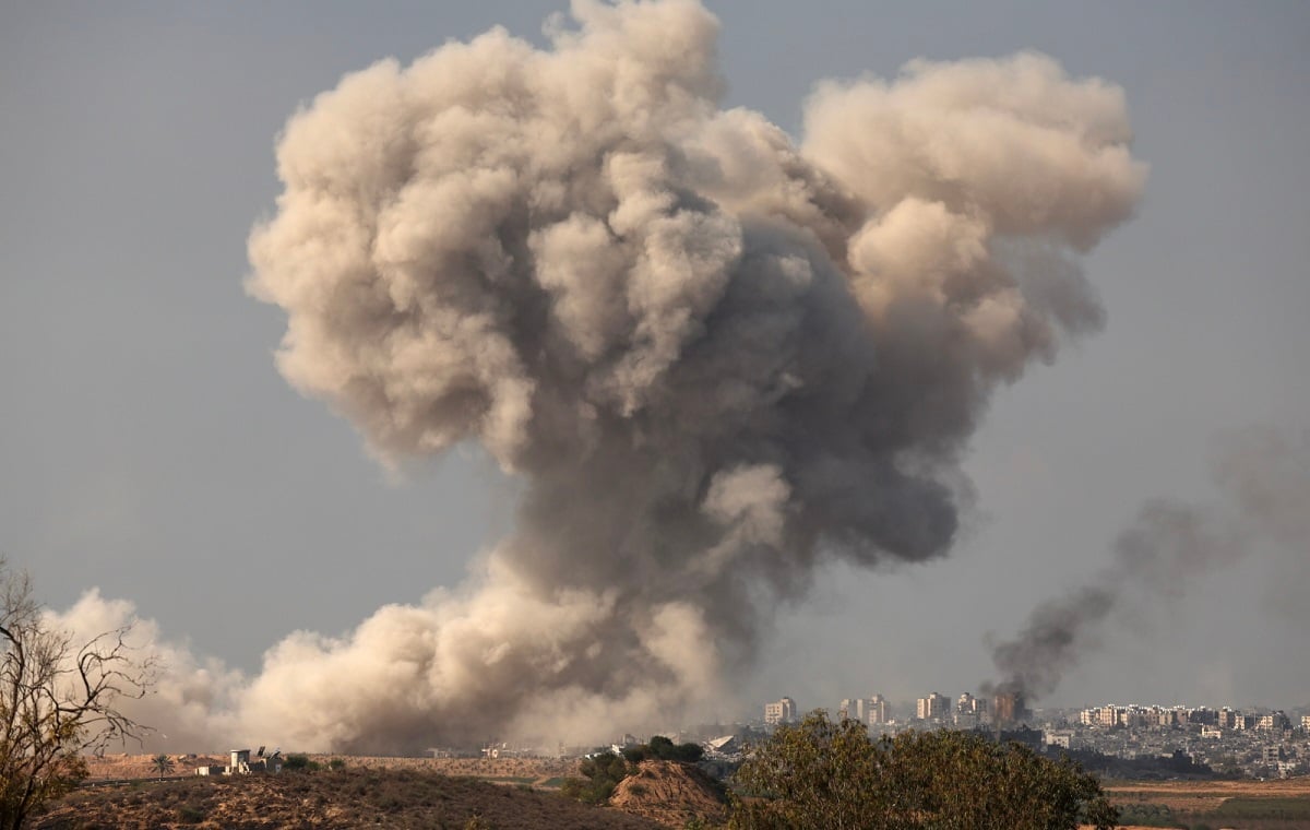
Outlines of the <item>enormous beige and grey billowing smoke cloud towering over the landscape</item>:
M 1145 176 L 1116 87 L 914 62 L 820 85 L 796 144 L 719 109 L 700 4 L 572 18 L 384 60 L 287 125 L 248 283 L 282 372 L 385 463 L 478 442 L 524 494 L 464 590 L 272 648 L 245 734 L 681 716 L 821 560 L 943 555 L 994 387 L 1100 324 L 1076 257 Z

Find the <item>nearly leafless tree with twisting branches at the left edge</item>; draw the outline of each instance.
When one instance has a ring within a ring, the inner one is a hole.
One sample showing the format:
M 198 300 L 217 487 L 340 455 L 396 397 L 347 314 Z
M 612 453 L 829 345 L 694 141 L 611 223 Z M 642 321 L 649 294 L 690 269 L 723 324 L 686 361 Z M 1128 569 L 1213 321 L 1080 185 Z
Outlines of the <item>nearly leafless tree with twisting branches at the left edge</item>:
M 127 633 L 77 642 L 52 628 L 28 574 L 0 559 L 0 830 L 84 779 L 85 755 L 145 732 L 118 709 L 145 694 L 155 667 Z

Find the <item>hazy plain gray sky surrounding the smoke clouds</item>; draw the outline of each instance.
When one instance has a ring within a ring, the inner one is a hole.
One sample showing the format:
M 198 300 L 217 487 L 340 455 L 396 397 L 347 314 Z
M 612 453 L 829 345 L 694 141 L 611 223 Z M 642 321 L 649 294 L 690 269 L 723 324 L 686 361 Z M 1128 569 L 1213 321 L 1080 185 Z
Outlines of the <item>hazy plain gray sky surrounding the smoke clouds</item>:
M 1086 261 L 1104 330 L 996 397 L 952 556 L 828 572 L 747 698 L 972 690 L 985 635 L 1108 564 L 1142 500 L 1212 496 L 1217 435 L 1310 429 L 1310 8 L 709 5 L 726 105 L 793 134 L 820 79 L 1032 49 L 1121 85 L 1150 165 Z M 400 481 L 287 385 L 245 243 L 297 105 L 495 24 L 540 42 L 559 8 L 0 5 L 0 551 L 51 606 L 98 586 L 253 670 L 295 629 L 457 585 L 506 532 L 515 488 L 479 450 Z M 1255 553 L 1112 620 L 1049 702 L 1310 703 L 1306 552 Z

